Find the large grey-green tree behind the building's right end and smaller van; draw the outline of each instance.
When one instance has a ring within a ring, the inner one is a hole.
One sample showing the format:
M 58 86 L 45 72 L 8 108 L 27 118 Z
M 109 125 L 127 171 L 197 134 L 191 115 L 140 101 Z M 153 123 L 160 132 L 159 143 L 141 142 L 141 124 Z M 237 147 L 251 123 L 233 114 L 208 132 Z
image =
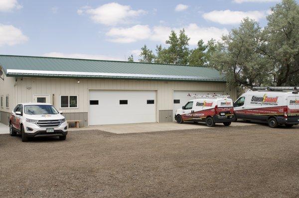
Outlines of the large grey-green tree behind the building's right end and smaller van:
M 209 67 L 226 75 L 228 84 L 253 87 L 268 84 L 271 75 L 264 57 L 257 53 L 260 47 L 261 27 L 245 18 L 239 28 L 234 28 L 222 37 L 215 46 L 209 60 Z

